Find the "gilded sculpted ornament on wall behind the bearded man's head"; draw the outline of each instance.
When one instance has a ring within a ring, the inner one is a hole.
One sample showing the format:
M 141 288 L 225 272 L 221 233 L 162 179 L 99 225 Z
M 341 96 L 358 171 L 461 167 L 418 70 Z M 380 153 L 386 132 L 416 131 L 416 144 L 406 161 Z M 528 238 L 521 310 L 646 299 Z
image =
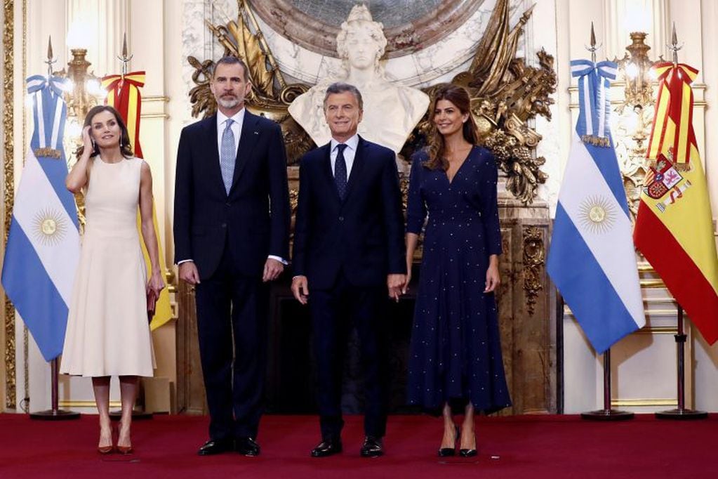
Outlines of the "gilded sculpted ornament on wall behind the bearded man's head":
M 224 47 L 224 55 L 233 55 L 246 62 L 253 86 L 247 97 L 247 108 L 253 113 L 271 118 L 281 126 L 287 164 L 297 164 L 302 154 L 312 148 L 314 142 L 289 115 L 287 108 L 289 103 L 307 91 L 309 86 L 286 83 L 247 1 L 238 0 L 237 4 L 239 13 L 236 21 L 217 26 L 208 22 L 208 27 Z M 187 57 L 187 61 L 195 68 L 192 81 L 197 85 L 190 90 L 192 116 L 197 117 L 204 113 L 207 118 L 217 111 L 217 103 L 210 91 L 214 61 L 200 62 L 195 57 Z

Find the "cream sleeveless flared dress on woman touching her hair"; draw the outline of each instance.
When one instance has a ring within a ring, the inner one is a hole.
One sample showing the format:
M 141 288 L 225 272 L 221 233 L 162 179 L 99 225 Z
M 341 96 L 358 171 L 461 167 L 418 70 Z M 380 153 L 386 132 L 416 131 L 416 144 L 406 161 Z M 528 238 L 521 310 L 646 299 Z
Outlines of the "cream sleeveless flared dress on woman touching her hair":
M 137 231 L 143 160 L 90 159 L 85 234 L 67 317 L 60 372 L 152 376 L 147 272 Z

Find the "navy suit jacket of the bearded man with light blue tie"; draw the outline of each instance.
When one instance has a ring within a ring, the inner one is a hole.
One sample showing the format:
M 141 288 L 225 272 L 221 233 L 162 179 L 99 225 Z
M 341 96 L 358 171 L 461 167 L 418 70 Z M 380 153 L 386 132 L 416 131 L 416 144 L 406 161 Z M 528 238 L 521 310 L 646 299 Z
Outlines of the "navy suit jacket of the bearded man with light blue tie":
M 174 187 L 174 260 L 211 276 L 225 245 L 236 268 L 261 276 L 267 256 L 289 254 L 286 152 L 279 125 L 245 112 L 229 194 L 217 146 L 217 117 L 182 129 Z

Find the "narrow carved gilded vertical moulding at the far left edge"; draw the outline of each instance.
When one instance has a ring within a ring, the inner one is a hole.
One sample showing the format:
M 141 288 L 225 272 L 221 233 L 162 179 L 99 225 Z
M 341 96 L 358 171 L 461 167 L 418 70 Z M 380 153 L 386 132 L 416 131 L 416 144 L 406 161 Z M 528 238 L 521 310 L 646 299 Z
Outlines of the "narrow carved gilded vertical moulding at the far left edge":
M 3 1 L 4 29 L 3 29 L 3 168 L 4 168 L 4 231 L 3 246 L 7 245 L 7 236 L 10 231 L 12 208 L 14 206 L 14 41 L 15 41 L 15 2 L 14 0 Z M 5 248 L 3 247 L 3 251 Z M 15 308 L 10 299 L 4 294 L 3 312 L 5 319 L 5 407 L 15 409 L 17 406 L 15 377 Z

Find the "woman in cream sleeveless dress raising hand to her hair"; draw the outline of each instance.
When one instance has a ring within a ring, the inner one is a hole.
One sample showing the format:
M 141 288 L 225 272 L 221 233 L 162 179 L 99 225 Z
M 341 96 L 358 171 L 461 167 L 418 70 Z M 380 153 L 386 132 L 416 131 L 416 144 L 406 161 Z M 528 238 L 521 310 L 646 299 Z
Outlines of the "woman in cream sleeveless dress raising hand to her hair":
M 85 118 L 83 147 L 67 175 L 67 189 L 85 192 L 85 234 L 67 319 L 60 372 L 90 376 L 100 416 L 98 451 L 113 450 L 110 377 L 119 376 L 122 419 L 117 450 L 132 451 L 130 424 L 138 376 L 152 376 L 147 292 L 164 287 L 152 223 L 149 165 L 133 157 L 129 134 L 111 106 Z M 136 215 L 151 260 L 147 280 Z

